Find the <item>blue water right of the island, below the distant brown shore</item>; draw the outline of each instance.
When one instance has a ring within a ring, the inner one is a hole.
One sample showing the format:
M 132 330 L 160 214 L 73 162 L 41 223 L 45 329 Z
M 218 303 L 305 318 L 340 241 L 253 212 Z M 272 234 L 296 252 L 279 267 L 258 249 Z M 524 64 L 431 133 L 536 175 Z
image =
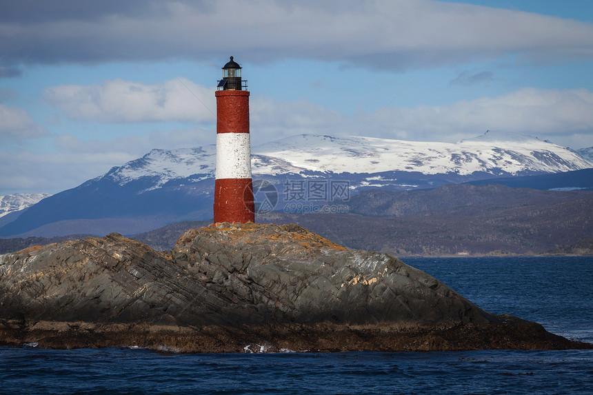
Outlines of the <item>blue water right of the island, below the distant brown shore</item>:
M 593 343 L 593 256 L 404 261 L 488 312 L 536 321 L 555 334 Z

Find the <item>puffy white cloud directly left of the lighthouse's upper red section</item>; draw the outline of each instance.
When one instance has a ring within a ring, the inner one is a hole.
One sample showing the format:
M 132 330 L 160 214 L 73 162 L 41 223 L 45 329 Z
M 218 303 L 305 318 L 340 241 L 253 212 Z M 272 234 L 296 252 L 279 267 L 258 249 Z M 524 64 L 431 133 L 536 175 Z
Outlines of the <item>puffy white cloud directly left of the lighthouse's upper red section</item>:
M 50 105 L 77 121 L 214 123 L 213 90 L 188 79 L 154 85 L 116 79 L 101 85 L 59 85 L 43 93 Z

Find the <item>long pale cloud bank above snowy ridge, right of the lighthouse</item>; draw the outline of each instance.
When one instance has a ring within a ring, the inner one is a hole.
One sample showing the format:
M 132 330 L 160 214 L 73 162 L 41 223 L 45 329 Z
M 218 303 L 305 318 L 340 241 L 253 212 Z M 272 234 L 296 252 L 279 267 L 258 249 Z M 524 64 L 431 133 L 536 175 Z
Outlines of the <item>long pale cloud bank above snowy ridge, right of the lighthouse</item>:
M 593 92 L 524 88 L 451 105 L 387 108 L 345 115 L 307 101 L 254 98 L 252 141 L 299 133 L 352 134 L 412 141 L 449 141 L 500 130 L 581 148 L 592 145 Z

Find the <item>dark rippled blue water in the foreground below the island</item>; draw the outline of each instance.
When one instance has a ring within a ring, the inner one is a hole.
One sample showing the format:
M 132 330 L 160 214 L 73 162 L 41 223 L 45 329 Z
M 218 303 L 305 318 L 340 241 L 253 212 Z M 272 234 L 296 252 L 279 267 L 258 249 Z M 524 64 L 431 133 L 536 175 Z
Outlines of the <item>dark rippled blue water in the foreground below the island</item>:
M 2 394 L 590 394 L 592 352 L 0 350 Z

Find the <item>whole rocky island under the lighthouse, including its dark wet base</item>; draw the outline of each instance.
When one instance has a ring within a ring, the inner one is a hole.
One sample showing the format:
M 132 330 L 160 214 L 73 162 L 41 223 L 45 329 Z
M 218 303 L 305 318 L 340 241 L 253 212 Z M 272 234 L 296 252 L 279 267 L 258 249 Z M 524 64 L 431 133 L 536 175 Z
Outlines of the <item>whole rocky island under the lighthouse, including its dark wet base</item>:
M 298 225 L 218 223 L 157 252 L 120 234 L 0 255 L 0 345 L 172 352 L 593 348 L 494 315 Z

